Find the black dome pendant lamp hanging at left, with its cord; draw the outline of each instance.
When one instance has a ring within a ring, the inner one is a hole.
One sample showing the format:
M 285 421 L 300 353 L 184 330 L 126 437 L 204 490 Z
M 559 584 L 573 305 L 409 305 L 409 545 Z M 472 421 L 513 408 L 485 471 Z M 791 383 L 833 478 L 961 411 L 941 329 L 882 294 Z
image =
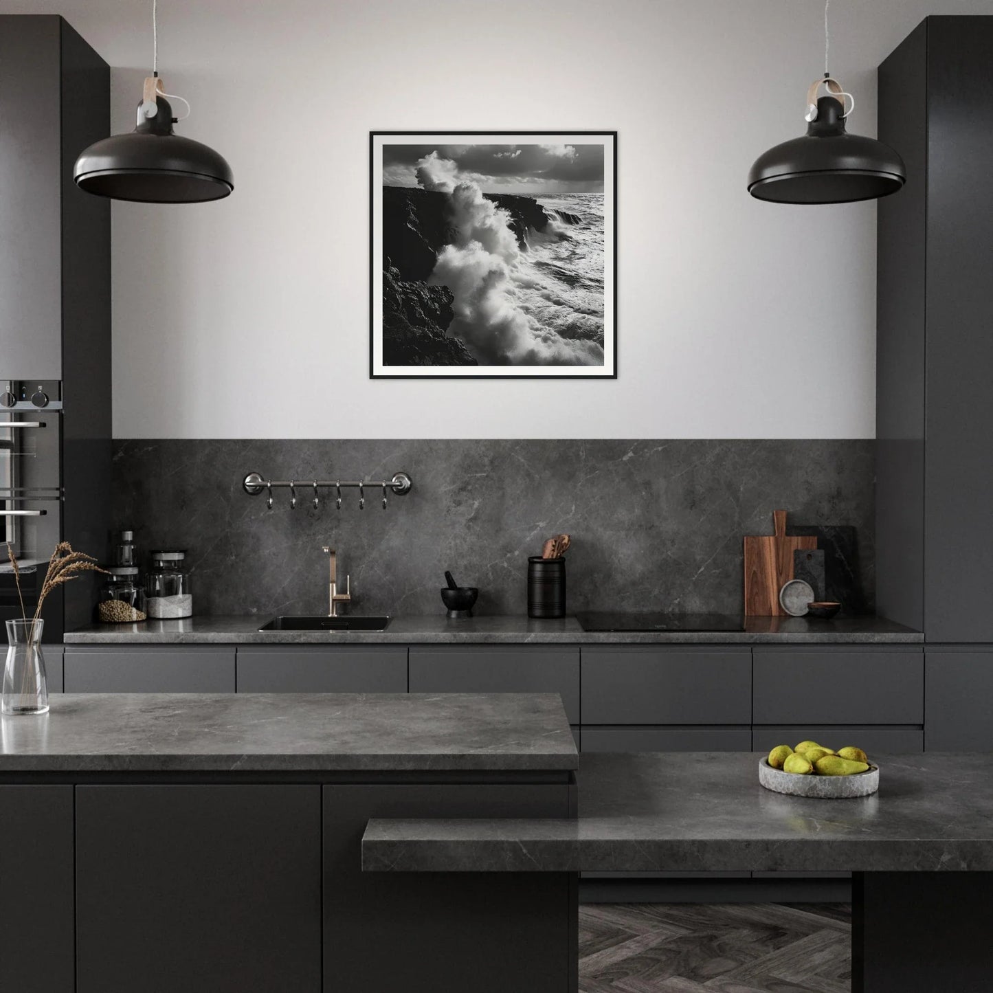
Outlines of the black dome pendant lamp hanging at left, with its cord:
M 220 200 L 234 189 L 231 167 L 210 146 L 173 131 L 177 118 L 166 98 L 171 94 L 163 89 L 158 72 L 156 7 L 153 0 L 153 69 L 145 79 L 135 129 L 90 145 L 76 159 L 72 178 L 80 190 L 112 200 L 146 204 Z M 174 99 L 186 103 L 182 96 Z

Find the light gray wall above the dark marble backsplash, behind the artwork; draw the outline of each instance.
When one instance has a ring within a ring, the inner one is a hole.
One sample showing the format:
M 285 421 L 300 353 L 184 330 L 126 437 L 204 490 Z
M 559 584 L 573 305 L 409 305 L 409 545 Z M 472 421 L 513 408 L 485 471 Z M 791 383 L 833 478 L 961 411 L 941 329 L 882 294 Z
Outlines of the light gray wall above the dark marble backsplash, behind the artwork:
M 752 160 L 804 126 L 820 0 L 160 8 L 166 88 L 193 103 L 180 130 L 236 188 L 114 205 L 117 437 L 872 437 L 875 207 L 745 191 Z M 115 129 L 132 126 L 150 0 L 0 11 L 65 14 L 115 67 Z M 991 12 L 835 0 L 852 129 L 875 133 L 875 67 L 922 16 Z M 620 132 L 617 381 L 367 379 L 370 128 Z M 835 292 L 814 295 L 825 274 Z

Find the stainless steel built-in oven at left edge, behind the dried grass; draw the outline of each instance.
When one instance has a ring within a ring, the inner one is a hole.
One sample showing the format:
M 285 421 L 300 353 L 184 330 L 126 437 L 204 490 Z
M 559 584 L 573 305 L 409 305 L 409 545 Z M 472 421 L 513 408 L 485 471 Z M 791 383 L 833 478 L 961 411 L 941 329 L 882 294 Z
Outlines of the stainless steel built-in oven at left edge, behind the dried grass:
M 34 614 L 62 537 L 62 417 L 58 383 L 0 380 L 0 620 Z M 21 570 L 20 595 L 7 545 Z M 61 639 L 61 590 L 46 600 L 43 616 L 45 640 Z

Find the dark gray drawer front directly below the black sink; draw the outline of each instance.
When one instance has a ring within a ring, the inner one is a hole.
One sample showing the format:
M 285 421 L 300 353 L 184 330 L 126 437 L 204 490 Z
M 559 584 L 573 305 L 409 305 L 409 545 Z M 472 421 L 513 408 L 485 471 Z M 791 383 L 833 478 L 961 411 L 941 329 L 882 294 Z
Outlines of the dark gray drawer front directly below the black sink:
M 238 648 L 239 693 L 406 693 L 406 647 Z

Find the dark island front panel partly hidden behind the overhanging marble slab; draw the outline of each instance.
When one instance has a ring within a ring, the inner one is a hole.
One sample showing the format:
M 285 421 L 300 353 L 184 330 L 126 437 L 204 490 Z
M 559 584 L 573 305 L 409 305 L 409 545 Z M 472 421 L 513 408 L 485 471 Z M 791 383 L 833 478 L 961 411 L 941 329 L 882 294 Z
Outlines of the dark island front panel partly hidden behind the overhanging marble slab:
M 361 837 L 370 817 L 568 817 L 569 788 L 325 786 L 325 990 L 575 989 L 573 875 L 489 873 L 481 882 L 477 873 L 361 871 Z

